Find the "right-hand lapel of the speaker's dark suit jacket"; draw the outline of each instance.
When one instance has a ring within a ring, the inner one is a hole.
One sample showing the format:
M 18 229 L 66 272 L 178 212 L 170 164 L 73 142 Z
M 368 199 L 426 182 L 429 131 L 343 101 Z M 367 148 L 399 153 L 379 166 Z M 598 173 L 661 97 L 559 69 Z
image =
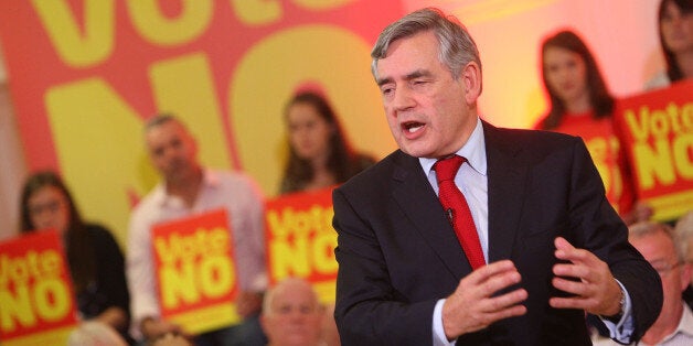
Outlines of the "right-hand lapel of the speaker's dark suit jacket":
M 527 165 L 519 141 L 484 122 L 489 193 L 489 261 L 509 259 L 523 208 Z

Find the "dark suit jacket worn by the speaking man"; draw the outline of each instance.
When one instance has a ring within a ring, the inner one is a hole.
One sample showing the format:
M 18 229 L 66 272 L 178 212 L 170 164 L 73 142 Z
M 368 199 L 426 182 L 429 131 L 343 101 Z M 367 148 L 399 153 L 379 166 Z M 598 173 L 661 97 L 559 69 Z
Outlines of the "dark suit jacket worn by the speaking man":
M 660 278 L 629 245 L 583 141 L 486 122 L 483 129 L 489 260 L 515 263 L 527 313 L 458 345 L 590 345 L 583 311 L 548 305 L 564 294 L 551 284 L 557 236 L 609 264 L 632 299 L 639 338 L 661 310 Z M 337 188 L 333 203 L 342 344 L 429 345 L 436 301 L 471 267 L 418 160 L 395 151 Z

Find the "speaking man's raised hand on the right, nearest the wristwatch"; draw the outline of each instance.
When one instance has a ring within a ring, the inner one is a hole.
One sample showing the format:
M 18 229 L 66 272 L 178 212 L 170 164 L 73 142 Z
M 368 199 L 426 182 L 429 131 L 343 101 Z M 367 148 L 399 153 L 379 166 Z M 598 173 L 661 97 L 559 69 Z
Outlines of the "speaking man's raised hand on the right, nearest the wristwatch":
M 611 275 L 609 266 L 594 253 L 573 247 L 562 237 L 556 238 L 556 258 L 569 263 L 555 264 L 554 288 L 574 294 L 569 298 L 552 298 L 556 309 L 582 309 L 588 313 L 611 316 L 619 313 L 621 288 Z M 573 281 L 564 278 L 574 278 Z

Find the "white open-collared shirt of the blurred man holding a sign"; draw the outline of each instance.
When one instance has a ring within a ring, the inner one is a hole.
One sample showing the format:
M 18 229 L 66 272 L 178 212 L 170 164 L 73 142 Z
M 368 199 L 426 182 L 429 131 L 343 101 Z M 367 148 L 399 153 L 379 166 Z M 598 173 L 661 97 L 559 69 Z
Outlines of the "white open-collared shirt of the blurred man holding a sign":
M 131 331 L 139 336 L 145 317 L 160 315 L 151 248 L 151 227 L 167 220 L 225 208 L 231 219 L 236 270 L 242 291 L 264 291 L 265 267 L 264 204 L 253 180 L 242 173 L 204 171 L 192 208 L 157 185 L 132 210 L 128 234 L 126 274 L 130 290 Z

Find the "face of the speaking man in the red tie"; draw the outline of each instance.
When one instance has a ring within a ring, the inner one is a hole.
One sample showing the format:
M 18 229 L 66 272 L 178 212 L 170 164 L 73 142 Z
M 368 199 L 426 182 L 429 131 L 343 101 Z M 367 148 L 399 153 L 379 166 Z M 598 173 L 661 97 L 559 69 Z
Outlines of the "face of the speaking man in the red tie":
M 465 144 L 477 123 L 480 93 L 467 75 L 470 65 L 478 71 L 470 63 L 455 79 L 438 60 L 433 32 L 390 45 L 377 62 L 376 79 L 390 130 L 402 151 L 417 158 L 441 158 Z

